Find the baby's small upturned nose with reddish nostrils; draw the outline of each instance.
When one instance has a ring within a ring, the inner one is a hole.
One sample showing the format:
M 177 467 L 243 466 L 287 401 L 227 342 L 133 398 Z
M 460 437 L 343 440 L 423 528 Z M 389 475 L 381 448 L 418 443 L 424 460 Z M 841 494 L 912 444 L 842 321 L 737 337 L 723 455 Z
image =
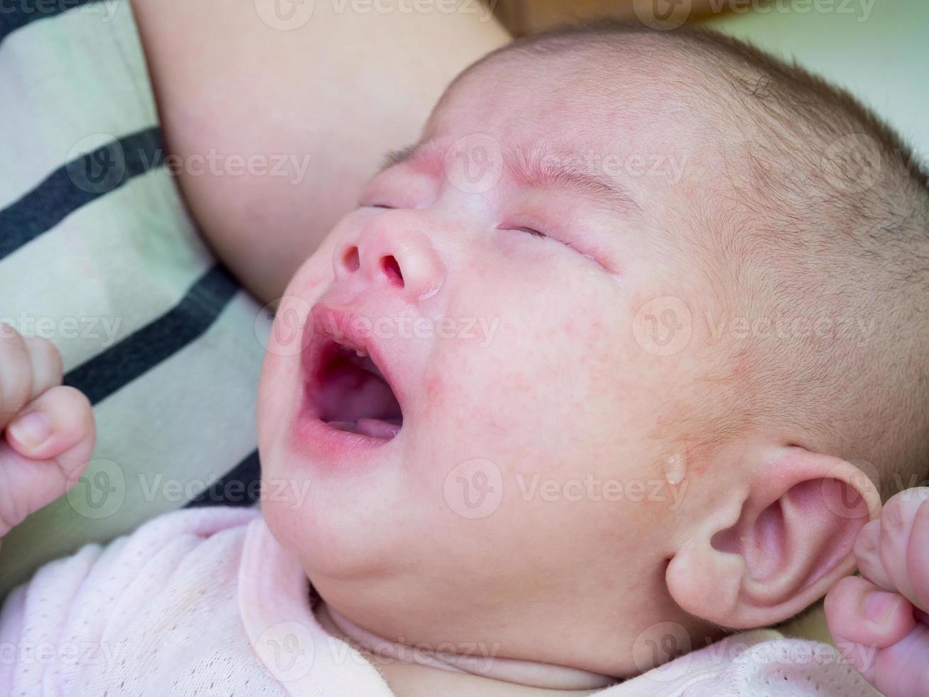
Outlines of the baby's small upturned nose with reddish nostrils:
M 412 303 L 434 296 L 445 272 L 418 214 L 387 211 L 335 249 L 335 278 L 361 279 Z

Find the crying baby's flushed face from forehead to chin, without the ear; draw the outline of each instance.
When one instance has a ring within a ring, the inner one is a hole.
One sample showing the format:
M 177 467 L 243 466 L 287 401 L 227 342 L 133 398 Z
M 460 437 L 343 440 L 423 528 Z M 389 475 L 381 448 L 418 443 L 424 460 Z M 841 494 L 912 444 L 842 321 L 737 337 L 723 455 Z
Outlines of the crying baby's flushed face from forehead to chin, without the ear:
M 583 93 L 492 65 L 453 88 L 290 284 L 259 440 L 268 524 L 355 622 L 535 658 L 582 628 L 573 664 L 622 675 L 667 616 L 697 371 L 648 303 L 695 291 L 661 100 Z

